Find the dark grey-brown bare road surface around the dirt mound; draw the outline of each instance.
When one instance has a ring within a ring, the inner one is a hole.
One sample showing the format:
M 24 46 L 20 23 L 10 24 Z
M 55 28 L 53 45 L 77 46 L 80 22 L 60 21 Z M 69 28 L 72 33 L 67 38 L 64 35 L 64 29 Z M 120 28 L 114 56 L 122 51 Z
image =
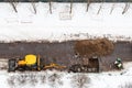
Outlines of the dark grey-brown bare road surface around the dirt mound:
M 26 54 L 40 55 L 45 59 L 46 64 L 56 63 L 69 68 L 75 64 L 82 64 L 82 59 L 76 55 L 75 45 L 77 41 L 67 42 L 13 42 L 0 43 L 0 58 L 19 58 Z M 110 70 L 114 69 L 113 62 L 117 57 L 122 58 L 123 62 L 132 61 L 132 43 L 117 42 L 113 43 L 107 54 L 100 55 L 99 69 Z M 111 45 L 110 45 L 111 46 Z M 101 53 L 102 54 L 102 53 Z M 94 64 L 95 65 L 95 64 Z

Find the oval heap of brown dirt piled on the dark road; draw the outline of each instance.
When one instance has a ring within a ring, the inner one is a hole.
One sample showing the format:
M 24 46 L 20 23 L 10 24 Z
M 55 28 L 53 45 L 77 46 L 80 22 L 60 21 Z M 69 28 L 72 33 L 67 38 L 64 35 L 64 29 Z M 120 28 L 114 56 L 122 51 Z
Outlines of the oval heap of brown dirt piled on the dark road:
M 75 44 L 75 52 L 80 56 L 106 56 L 112 53 L 114 45 L 107 38 L 82 40 Z

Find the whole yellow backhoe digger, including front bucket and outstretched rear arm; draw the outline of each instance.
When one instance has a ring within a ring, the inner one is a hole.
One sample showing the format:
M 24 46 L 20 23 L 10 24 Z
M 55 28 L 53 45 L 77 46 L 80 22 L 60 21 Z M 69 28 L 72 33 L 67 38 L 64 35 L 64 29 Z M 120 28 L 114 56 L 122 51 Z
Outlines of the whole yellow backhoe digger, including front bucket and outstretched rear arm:
M 44 58 L 40 58 L 40 55 L 33 55 L 28 54 L 24 58 L 12 58 L 9 59 L 9 67 L 8 72 L 15 72 L 15 70 L 43 70 L 43 69 L 50 69 L 50 68 L 56 68 L 56 69 L 63 69 L 66 68 L 66 66 L 61 66 L 55 63 L 51 63 L 46 65 Z

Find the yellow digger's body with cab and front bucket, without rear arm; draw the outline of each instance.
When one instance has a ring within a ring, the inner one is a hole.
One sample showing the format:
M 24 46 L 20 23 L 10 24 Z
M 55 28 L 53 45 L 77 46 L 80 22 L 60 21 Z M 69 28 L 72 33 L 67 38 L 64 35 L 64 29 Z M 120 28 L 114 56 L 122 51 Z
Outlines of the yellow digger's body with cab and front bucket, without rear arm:
M 40 56 L 29 54 L 22 59 L 9 59 L 8 72 L 40 70 Z

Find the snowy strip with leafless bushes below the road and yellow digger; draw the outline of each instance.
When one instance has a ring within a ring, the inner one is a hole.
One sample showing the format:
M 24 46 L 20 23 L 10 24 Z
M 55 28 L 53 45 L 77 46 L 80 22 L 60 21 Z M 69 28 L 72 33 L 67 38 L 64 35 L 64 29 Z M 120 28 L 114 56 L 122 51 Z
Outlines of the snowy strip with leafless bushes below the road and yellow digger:
M 122 86 L 122 87 L 120 87 Z M 131 86 L 131 87 L 124 87 Z M 132 62 L 120 72 L 74 74 L 57 70 L 7 73 L 0 70 L 0 88 L 132 88 Z

